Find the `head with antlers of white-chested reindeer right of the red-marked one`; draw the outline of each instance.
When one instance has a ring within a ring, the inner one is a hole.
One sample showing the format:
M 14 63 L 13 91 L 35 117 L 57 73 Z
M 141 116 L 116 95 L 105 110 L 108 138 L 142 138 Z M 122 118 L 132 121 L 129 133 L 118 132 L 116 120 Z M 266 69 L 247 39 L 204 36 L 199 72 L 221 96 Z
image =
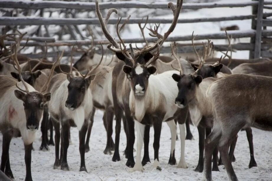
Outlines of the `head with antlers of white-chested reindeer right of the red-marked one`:
M 92 74 L 94 72 L 94 70 L 96 70 L 99 65 L 101 64 L 102 60 L 103 60 L 103 46 L 101 44 L 101 49 L 102 49 L 102 57 L 100 62 L 96 65 L 96 67 L 94 69 L 92 69 L 91 71 L 87 71 L 87 73 L 85 75 L 82 75 L 78 70 L 78 73 L 80 73 L 81 76 L 75 77 L 72 73 L 73 69 L 76 69 L 72 66 L 73 63 L 73 48 L 71 51 L 71 62 L 70 62 L 70 73 L 65 73 L 62 71 L 62 73 L 67 75 L 67 80 L 69 81 L 69 84 L 67 86 L 68 88 L 68 97 L 65 101 L 65 107 L 68 108 L 69 110 L 73 111 L 76 108 L 78 108 L 79 106 L 81 106 L 86 92 L 89 89 L 89 86 L 91 84 L 91 81 L 94 80 L 95 78 L 95 74 Z M 60 67 L 59 67 L 60 68 Z M 60 68 L 61 70 L 61 68 Z

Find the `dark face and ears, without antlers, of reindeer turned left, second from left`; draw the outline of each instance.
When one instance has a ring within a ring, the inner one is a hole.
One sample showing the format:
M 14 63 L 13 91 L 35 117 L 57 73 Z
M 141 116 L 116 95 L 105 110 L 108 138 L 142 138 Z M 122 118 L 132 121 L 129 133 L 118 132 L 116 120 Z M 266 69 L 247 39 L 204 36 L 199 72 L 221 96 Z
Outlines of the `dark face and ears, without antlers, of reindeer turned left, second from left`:
M 68 97 L 65 102 L 65 106 L 70 110 L 78 108 L 84 100 L 86 91 L 91 84 L 91 80 L 94 80 L 95 75 L 91 75 L 83 79 L 82 77 L 71 78 L 67 75 L 69 81 L 68 84 Z

